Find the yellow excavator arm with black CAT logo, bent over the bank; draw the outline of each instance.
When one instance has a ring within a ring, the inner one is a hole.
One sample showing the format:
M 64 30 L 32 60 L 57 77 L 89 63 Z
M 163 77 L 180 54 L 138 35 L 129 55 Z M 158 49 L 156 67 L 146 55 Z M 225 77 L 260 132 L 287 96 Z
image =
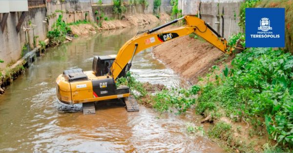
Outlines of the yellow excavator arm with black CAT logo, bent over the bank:
M 180 19 L 185 19 L 186 25 L 164 32 L 155 32 L 177 22 Z M 230 51 L 227 51 L 226 39 L 222 38 L 215 30 L 205 23 L 204 20 L 193 16 L 185 16 L 180 19 L 175 19 L 157 28 L 147 30 L 146 32 L 138 34 L 128 40 L 120 48 L 117 57 L 111 66 L 112 77 L 114 80 L 120 76 L 121 73 L 125 73 L 125 71 L 130 69 L 133 57 L 139 52 L 145 50 L 146 48 L 161 44 L 174 38 L 186 36 L 191 33 L 195 33 L 204 38 L 222 52 L 226 54 L 231 53 Z

